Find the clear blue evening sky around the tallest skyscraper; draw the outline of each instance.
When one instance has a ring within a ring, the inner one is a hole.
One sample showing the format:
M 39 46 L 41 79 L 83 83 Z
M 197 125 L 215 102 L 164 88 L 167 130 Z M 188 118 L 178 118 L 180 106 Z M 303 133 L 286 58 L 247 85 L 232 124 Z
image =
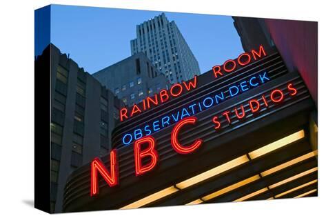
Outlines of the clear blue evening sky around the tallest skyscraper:
M 160 13 L 52 5 L 50 41 L 92 74 L 129 57 L 136 25 Z M 178 12 L 165 15 L 176 22 L 202 73 L 243 52 L 232 17 Z

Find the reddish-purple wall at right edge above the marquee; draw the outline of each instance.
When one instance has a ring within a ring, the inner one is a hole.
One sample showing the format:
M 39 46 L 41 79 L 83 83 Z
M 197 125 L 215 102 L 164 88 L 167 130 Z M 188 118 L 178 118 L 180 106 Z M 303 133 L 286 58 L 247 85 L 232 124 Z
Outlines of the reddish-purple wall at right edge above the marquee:
M 265 19 L 289 71 L 298 70 L 318 106 L 318 23 Z

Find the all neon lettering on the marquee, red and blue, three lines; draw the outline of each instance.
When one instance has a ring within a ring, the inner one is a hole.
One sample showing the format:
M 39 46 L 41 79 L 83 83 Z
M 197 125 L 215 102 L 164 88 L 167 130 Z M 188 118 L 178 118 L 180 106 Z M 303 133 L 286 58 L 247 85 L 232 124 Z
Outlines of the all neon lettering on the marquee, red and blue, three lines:
M 258 51 L 252 50 L 249 53 L 245 52 L 240 54 L 236 60 L 227 60 L 222 66 L 214 66 L 212 68 L 214 77 L 223 77 L 227 73 L 233 72 L 237 67 L 246 66 L 247 64 L 252 63 L 252 61 L 261 59 L 266 55 L 263 46 L 260 46 Z M 194 90 L 197 86 L 197 79 L 197 77 L 194 77 L 194 79 L 190 81 L 176 83 L 170 88 L 170 90 L 161 90 L 161 92 L 154 95 L 154 97 L 147 97 L 147 99 L 143 100 L 141 105 L 134 105 L 129 109 L 122 108 L 120 110 L 120 120 L 124 121 L 130 119 L 131 117 L 141 114 L 145 110 L 149 110 L 159 104 L 170 101 L 170 99 L 174 97 L 179 97 L 185 92 Z M 190 145 L 183 145 L 179 141 L 179 134 L 186 128 L 193 128 L 196 126 L 197 118 L 194 117 L 194 115 L 207 108 L 211 108 L 226 99 L 230 99 L 246 92 L 247 90 L 260 86 L 269 80 L 268 72 L 256 72 L 256 74 L 248 78 L 244 78 L 243 80 L 232 83 L 229 86 L 214 90 L 213 93 L 188 103 L 187 106 L 179 108 L 172 114 L 165 114 L 158 120 L 152 121 L 151 123 L 145 123 L 145 126 L 126 133 L 123 136 L 123 140 L 128 141 L 123 141 L 123 143 L 130 144 L 133 141 L 135 176 L 138 177 L 150 172 L 159 162 L 159 152 L 156 150 L 156 141 L 154 137 L 151 136 L 153 132 L 175 124 L 172 128 L 170 137 L 173 150 L 180 155 L 191 154 L 202 146 L 205 146 L 205 141 L 198 138 Z M 232 108 L 232 110 L 225 110 L 218 115 L 212 115 L 212 128 L 216 131 L 221 131 L 221 129 L 225 128 L 225 125 L 222 125 L 222 123 L 227 123 L 226 126 L 231 126 L 234 124 L 234 119 L 240 121 L 248 116 L 258 114 L 263 108 L 268 110 L 271 106 L 282 103 L 285 96 L 294 97 L 296 94 L 297 90 L 293 83 L 288 83 L 285 90 L 274 88 L 274 90 L 268 94 L 261 95 L 261 97 L 258 98 L 249 99 L 247 103 L 242 103 Z M 233 117 L 233 119 L 231 119 L 231 117 Z M 129 139 L 127 139 L 128 137 Z M 97 157 L 93 159 L 90 165 L 91 196 L 99 194 L 99 175 L 103 177 L 108 186 L 114 187 L 119 185 L 118 163 L 117 149 L 110 152 L 110 167 L 105 166 L 103 161 Z

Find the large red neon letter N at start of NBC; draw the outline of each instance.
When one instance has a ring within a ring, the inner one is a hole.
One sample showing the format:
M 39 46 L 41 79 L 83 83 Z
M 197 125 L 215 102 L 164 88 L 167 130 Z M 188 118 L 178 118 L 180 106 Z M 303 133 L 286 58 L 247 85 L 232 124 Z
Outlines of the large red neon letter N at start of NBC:
M 101 174 L 106 183 L 112 187 L 118 184 L 118 160 L 116 150 L 110 152 L 110 171 L 105 167 L 101 159 L 94 158 L 90 164 L 90 196 L 99 194 L 99 179 L 98 172 Z

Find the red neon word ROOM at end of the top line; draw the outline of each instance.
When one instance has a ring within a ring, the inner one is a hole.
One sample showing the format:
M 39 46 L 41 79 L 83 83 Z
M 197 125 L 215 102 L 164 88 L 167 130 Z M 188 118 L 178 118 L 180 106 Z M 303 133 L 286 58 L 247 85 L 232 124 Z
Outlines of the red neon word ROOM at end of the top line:
M 252 62 L 252 58 L 254 61 L 261 59 L 266 56 L 266 52 L 263 48 L 263 46 L 259 46 L 259 50 L 251 50 L 251 52 L 245 52 L 243 54 L 240 54 L 237 59 L 230 59 L 223 63 L 222 67 L 219 65 L 214 66 L 213 73 L 214 77 L 222 77 L 225 72 L 232 72 L 236 70 L 236 67 L 240 65 L 241 67 L 246 66 L 250 62 Z

